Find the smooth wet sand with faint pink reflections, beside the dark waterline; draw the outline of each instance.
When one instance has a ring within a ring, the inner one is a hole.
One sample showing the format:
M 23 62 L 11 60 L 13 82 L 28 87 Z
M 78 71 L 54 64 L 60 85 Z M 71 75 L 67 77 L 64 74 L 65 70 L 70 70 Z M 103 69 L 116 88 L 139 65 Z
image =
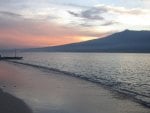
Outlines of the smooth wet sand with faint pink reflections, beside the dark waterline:
M 62 73 L 0 62 L 0 87 L 34 113 L 149 113 L 150 109 L 100 85 Z

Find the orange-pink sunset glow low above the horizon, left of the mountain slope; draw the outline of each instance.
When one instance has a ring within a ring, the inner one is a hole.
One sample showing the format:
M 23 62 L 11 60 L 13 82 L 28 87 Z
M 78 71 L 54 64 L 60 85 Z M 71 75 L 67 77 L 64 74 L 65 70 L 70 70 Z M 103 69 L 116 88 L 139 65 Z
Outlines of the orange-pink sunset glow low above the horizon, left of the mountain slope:
M 90 36 L 34 36 L 24 34 L 16 30 L 1 30 L 0 36 L 4 37 L 2 43 L 7 45 L 18 45 L 19 47 L 47 47 L 47 46 L 58 46 L 70 43 L 77 43 L 95 39 L 96 37 Z

